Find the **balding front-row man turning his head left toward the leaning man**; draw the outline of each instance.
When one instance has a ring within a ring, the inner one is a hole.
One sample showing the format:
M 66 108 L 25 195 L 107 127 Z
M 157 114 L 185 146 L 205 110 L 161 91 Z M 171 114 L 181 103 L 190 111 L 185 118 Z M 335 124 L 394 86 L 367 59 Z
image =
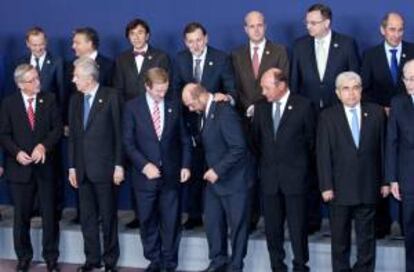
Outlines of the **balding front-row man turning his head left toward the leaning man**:
M 287 271 L 283 260 L 285 218 L 294 254 L 293 271 L 309 271 L 306 194 L 314 159 L 314 108 L 306 98 L 290 93 L 281 69 L 267 70 L 260 85 L 266 101 L 255 104 L 252 126 L 272 271 Z

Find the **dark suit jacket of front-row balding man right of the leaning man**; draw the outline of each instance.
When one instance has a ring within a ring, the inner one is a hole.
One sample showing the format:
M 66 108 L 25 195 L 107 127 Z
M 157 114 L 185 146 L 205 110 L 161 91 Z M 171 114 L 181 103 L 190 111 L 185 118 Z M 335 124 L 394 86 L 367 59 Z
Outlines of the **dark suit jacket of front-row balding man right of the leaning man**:
M 262 191 L 304 194 L 314 160 L 314 108 L 308 99 L 290 94 L 275 138 L 272 105 L 267 101 L 257 103 L 253 116 Z

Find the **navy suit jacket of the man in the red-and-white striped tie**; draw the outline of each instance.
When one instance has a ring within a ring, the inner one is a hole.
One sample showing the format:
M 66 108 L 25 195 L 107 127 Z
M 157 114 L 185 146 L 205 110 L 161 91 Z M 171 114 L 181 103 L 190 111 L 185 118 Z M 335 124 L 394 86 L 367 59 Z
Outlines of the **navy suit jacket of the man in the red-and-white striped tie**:
M 141 190 L 179 186 L 180 170 L 191 167 L 191 138 L 184 125 L 181 102 L 173 97 L 164 100 L 164 127 L 158 139 L 145 93 L 130 100 L 124 112 L 124 146 L 133 165 L 133 180 Z M 161 179 L 148 180 L 142 169 L 153 163 L 161 170 Z

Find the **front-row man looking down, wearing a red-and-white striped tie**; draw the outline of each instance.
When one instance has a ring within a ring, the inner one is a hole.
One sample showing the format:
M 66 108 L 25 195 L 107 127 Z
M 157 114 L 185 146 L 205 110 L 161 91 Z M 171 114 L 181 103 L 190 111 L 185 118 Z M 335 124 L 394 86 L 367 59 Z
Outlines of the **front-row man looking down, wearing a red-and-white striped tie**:
M 145 271 L 175 271 L 180 241 L 180 182 L 190 177 L 191 138 L 181 101 L 166 98 L 169 75 L 146 72 L 146 93 L 129 101 L 124 114 L 124 145 L 132 163 L 132 182 L 141 222 Z

